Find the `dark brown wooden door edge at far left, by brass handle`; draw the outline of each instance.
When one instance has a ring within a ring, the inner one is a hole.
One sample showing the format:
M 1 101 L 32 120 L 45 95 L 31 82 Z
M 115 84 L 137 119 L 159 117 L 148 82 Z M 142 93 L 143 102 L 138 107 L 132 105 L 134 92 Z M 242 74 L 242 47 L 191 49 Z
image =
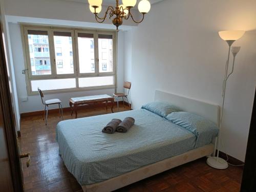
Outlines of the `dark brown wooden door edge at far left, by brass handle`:
M 3 20 L 0 17 L 0 102 L 2 104 L 6 141 L 8 146 L 9 162 L 12 173 L 14 191 L 23 191 L 22 167 L 19 160 L 17 136 L 15 131 L 15 117 L 13 113 L 11 89 L 9 87 L 10 76 L 5 54 L 5 42 L 3 38 Z

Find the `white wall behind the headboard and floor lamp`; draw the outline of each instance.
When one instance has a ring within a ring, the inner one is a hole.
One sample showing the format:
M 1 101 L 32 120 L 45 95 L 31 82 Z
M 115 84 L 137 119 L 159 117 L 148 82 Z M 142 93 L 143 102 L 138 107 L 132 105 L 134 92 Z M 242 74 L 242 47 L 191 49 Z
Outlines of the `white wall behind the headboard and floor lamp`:
M 256 1 L 153 5 L 144 22 L 127 32 L 133 36 L 132 62 L 125 59 L 125 70 L 132 70 L 133 109 L 152 101 L 155 90 L 221 105 L 228 46 L 218 36 L 220 30 L 247 31 L 233 44 L 242 48 L 227 82 L 221 147 L 244 161 L 256 85 Z M 129 76 L 125 71 L 124 77 Z

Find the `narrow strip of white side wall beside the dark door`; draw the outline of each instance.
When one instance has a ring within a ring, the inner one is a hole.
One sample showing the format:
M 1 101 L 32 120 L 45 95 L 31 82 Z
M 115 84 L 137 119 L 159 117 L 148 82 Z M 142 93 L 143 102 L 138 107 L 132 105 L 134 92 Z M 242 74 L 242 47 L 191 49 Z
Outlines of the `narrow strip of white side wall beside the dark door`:
M 10 92 L 12 96 L 12 106 L 13 106 L 13 113 L 15 116 L 15 122 L 16 122 L 16 131 L 19 130 L 20 126 L 20 115 L 19 115 L 19 106 L 18 106 L 18 96 L 17 96 L 17 90 L 16 90 L 16 82 L 15 82 L 15 75 L 14 75 L 14 66 L 13 66 L 13 60 L 12 60 L 12 53 L 11 53 L 11 45 L 10 45 L 10 36 L 9 36 L 9 26 L 5 17 L 5 9 L 4 9 L 4 2 L 0 1 L 0 7 L 1 7 L 1 19 L 3 24 L 3 37 L 5 38 L 5 54 L 8 64 L 8 70 L 9 70 L 9 81 L 10 81 Z

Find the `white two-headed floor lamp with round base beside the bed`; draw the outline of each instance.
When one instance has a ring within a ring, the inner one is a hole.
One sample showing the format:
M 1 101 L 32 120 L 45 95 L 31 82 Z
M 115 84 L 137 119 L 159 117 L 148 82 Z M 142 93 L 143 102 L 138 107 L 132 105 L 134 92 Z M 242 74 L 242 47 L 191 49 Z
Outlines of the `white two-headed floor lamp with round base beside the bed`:
M 240 51 L 240 47 L 232 47 L 234 41 L 238 40 L 244 35 L 245 31 L 220 31 L 220 37 L 225 40 L 228 44 L 228 56 L 225 68 L 225 76 L 222 85 L 222 108 L 221 108 L 221 117 L 220 117 L 220 124 L 219 124 L 219 135 L 218 135 L 218 147 L 217 147 L 217 157 L 208 157 L 207 164 L 211 167 L 218 168 L 218 169 L 225 169 L 228 167 L 227 161 L 219 157 L 219 150 L 220 150 L 220 143 L 221 143 L 221 125 L 222 125 L 222 118 L 223 118 L 223 109 L 224 109 L 224 100 L 225 100 L 225 92 L 226 92 L 226 83 L 228 77 L 233 73 L 234 70 L 234 59 L 236 58 L 237 53 Z M 233 54 L 233 65 L 231 72 L 228 73 L 228 63 L 229 63 L 229 56 L 230 50 Z

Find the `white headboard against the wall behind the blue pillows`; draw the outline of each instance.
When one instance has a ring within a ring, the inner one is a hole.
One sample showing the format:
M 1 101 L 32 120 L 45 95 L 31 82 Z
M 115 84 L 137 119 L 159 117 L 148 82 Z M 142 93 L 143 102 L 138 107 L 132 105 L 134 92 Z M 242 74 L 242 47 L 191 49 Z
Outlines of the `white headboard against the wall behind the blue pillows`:
M 177 106 L 182 111 L 195 113 L 211 121 L 214 121 L 217 123 L 217 125 L 219 125 L 220 110 L 217 104 L 210 104 L 196 99 L 191 99 L 158 90 L 155 92 L 155 101 L 168 102 L 174 106 Z

